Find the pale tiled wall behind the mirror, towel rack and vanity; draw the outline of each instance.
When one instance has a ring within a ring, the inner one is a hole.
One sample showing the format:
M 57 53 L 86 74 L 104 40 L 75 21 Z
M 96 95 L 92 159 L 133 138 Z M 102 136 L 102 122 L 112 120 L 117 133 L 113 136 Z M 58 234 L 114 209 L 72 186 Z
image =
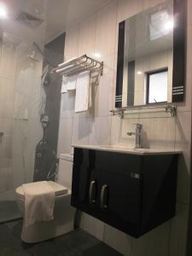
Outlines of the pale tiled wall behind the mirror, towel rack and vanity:
M 163 0 L 162 0 L 163 2 Z M 189 4 L 191 6 L 191 0 Z M 110 116 L 114 106 L 118 24 L 160 0 L 111 0 L 104 8 L 85 17 L 77 26 L 67 30 L 65 61 L 77 55 L 99 52 L 104 61 L 104 75 L 95 91 L 95 108 L 90 113 L 74 113 L 74 94 L 61 98 L 59 152 L 70 153 L 72 143 L 134 145 L 132 131 L 137 121 L 143 123 L 151 148 L 183 150 L 178 164 L 177 215 L 166 224 L 139 239 L 125 235 L 107 224 L 83 214 L 81 227 L 107 242 L 126 256 L 183 256 L 186 243 L 189 207 L 190 126 L 191 126 L 191 61 L 192 19 L 188 22 L 187 92 L 186 100 L 177 104 L 177 117 L 154 117 L 139 114 L 137 119 Z M 189 8 L 188 8 L 189 9 Z

